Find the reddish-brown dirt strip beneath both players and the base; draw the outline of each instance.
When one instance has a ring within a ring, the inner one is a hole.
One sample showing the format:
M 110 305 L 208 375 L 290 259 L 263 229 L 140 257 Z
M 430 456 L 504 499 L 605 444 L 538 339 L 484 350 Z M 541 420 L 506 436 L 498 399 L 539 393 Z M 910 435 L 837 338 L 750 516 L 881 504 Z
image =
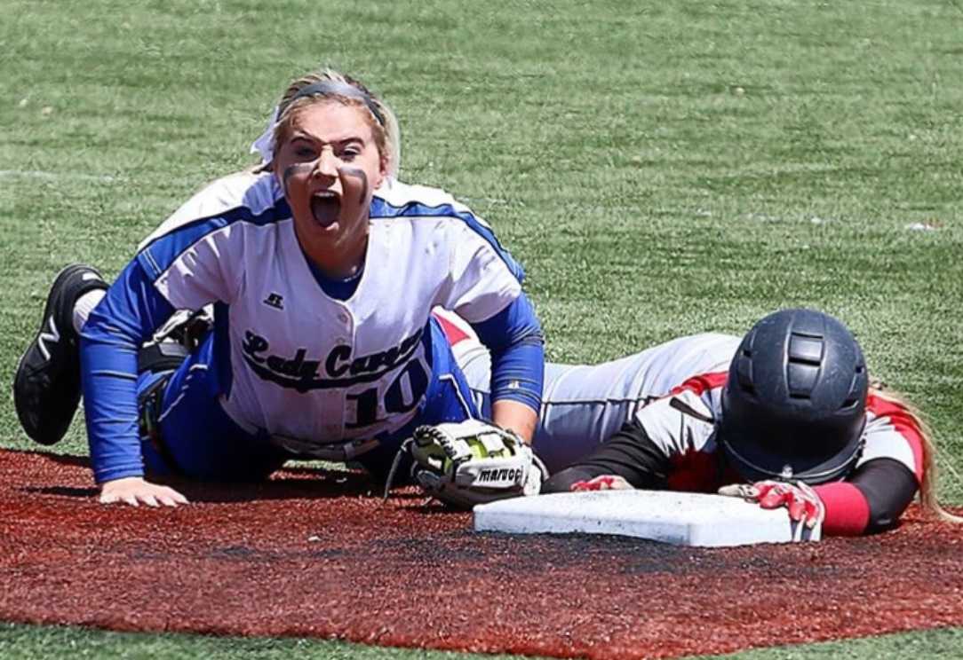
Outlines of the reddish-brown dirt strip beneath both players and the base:
M 86 459 L 0 451 L 0 620 L 590 658 L 963 624 L 963 527 L 701 549 L 470 531 L 361 474 L 177 485 L 106 507 Z

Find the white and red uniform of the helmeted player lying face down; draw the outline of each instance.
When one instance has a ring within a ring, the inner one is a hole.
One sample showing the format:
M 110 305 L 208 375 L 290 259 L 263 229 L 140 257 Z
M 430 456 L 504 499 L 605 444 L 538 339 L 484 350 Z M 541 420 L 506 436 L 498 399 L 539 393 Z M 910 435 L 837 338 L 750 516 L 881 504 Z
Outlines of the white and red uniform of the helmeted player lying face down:
M 448 322 L 445 330 L 453 342 L 458 366 L 476 394 L 480 409 L 487 412 L 487 350 L 463 321 L 443 312 L 438 315 Z M 740 342 L 738 337 L 707 333 L 682 337 L 599 365 L 547 364 L 542 411 L 533 443 L 535 451 L 554 472 L 585 458 L 622 424 L 636 419 L 653 444 L 672 460 L 670 485 L 678 485 L 679 490 L 704 487 L 714 491 L 718 484 L 708 481 L 712 477 L 705 468 L 715 467 L 715 463 L 703 460 L 717 449 L 712 424 L 693 424 L 682 433 L 677 411 L 647 404 L 668 394 L 680 394 L 684 399 L 694 396 L 700 402 L 691 402 L 693 407 L 701 403 L 713 419 L 721 419 L 722 388 Z M 902 405 L 871 393 L 864 433 L 866 446 L 857 467 L 872 459 L 890 458 L 922 479 L 920 429 Z

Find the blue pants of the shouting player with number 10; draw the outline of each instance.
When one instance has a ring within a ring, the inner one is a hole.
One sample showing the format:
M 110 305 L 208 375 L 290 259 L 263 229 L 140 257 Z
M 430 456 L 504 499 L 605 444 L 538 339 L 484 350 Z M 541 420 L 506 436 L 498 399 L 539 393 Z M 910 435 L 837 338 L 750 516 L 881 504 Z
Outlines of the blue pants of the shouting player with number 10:
M 403 428 L 378 437 L 377 446 L 357 460 L 369 470 L 385 473 L 403 441 L 420 424 L 462 421 L 479 416 L 471 390 L 455 364 L 451 345 L 431 318 L 425 333 L 431 380 L 419 414 Z M 161 445 L 142 438 L 146 469 L 151 474 L 181 474 L 216 481 L 264 479 L 293 454 L 273 444 L 267 432 L 250 433 L 223 411 L 221 387 L 214 365 L 214 333 L 172 373 L 144 372 L 138 392 L 169 377 L 158 416 Z

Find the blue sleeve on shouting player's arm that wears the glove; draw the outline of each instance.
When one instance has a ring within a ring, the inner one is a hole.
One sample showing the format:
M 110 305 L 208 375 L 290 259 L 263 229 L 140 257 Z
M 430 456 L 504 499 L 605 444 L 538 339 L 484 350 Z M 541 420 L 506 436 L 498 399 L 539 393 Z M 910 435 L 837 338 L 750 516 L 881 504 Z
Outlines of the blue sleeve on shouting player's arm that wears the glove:
M 491 353 L 492 403 L 518 401 L 538 413 L 545 378 L 545 341 L 525 293 L 494 317 L 472 323 L 472 327 Z

